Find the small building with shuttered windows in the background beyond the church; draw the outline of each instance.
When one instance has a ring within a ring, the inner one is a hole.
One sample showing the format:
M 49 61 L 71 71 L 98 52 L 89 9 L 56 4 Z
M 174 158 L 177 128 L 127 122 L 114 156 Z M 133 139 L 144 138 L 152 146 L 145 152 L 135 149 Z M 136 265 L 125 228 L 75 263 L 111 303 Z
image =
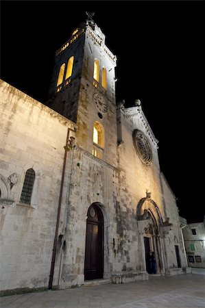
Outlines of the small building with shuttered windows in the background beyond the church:
M 181 220 L 182 221 L 182 220 Z M 205 217 L 203 222 L 187 224 L 183 219 L 186 256 L 192 268 L 205 268 Z

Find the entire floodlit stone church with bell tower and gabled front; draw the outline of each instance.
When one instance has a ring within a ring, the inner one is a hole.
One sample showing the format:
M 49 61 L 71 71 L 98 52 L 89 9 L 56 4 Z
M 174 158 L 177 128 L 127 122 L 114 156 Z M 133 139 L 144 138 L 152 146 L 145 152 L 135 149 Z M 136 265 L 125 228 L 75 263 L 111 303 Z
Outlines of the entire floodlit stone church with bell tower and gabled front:
M 189 272 L 176 198 L 141 102 L 115 101 L 93 21 L 56 52 L 47 106 L 1 81 L 1 291 Z

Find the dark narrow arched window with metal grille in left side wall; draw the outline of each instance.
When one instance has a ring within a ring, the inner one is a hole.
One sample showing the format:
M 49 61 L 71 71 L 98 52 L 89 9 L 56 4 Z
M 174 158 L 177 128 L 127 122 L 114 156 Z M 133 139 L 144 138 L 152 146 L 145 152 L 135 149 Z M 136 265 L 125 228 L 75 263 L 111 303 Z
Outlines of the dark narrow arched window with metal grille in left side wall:
M 23 183 L 23 189 L 21 192 L 21 199 L 20 199 L 21 203 L 30 204 L 34 181 L 35 181 L 35 172 L 34 169 L 30 168 L 25 173 L 25 180 Z

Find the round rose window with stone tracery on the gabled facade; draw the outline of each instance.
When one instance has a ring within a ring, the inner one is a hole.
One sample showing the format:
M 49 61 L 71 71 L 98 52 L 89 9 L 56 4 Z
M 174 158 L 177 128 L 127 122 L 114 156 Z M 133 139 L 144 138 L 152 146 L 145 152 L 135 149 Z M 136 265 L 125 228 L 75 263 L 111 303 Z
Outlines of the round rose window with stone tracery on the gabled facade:
M 132 137 L 134 142 L 134 148 L 136 149 L 136 153 L 141 158 L 141 160 L 145 164 L 151 162 L 152 150 L 145 134 L 138 129 L 134 129 Z

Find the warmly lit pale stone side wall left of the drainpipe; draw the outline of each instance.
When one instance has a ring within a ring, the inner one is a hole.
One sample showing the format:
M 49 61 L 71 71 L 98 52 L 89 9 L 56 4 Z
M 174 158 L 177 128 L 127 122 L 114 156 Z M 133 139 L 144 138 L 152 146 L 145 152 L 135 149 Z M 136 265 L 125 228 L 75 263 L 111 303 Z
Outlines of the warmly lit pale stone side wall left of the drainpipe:
M 47 287 L 64 145 L 73 123 L 4 81 L 0 97 L 1 290 Z M 27 168 L 38 179 L 31 205 L 19 203 Z

